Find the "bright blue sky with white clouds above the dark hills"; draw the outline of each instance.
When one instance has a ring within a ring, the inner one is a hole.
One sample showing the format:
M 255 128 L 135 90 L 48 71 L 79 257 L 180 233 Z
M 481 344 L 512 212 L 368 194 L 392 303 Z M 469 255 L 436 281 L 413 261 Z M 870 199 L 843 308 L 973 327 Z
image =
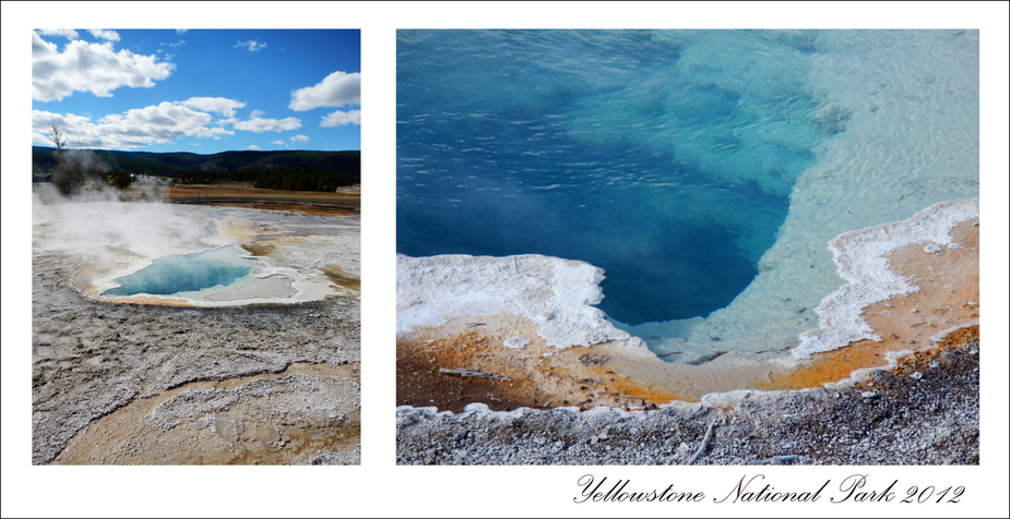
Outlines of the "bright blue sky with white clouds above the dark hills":
M 36 29 L 32 141 L 213 154 L 361 148 L 359 31 Z

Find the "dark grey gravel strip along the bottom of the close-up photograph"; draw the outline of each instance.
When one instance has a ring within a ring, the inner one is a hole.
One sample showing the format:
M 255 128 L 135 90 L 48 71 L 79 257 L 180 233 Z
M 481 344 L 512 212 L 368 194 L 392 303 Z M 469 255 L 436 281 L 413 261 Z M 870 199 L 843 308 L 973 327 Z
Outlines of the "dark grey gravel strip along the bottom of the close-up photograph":
M 397 409 L 401 464 L 977 464 L 978 327 L 840 389 L 625 412 Z M 711 431 L 710 431 L 711 430 Z M 706 438 L 708 436 L 708 438 Z

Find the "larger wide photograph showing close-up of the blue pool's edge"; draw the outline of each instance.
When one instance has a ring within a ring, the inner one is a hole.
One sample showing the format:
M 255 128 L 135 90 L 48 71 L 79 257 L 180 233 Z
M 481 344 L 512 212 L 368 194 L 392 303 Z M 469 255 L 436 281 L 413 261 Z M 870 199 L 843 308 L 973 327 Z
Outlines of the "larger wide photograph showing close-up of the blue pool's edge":
M 979 33 L 399 31 L 399 464 L 978 464 Z

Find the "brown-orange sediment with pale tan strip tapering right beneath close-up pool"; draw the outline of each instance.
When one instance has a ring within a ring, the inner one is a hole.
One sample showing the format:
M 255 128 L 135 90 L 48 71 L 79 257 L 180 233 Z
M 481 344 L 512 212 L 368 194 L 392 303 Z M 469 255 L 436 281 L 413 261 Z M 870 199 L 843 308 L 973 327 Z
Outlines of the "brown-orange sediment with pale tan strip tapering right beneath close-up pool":
M 503 341 L 512 336 L 530 342 L 522 349 L 507 348 Z M 768 381 L 770 373 L 784 371 L 769 362 L 668 363 L 652 354 L 629 353 L 629 346 L 620 341 L 549 348 L 536 335 L 535 324 L 501 314 L 419 329 L 400 337 L 396 346 L 397 405 L 453 412 L 473 402 L 504 411 L 568 406 L 652 409 L 752 387 Z M 445 373 L 461 369 L 479 374 Z

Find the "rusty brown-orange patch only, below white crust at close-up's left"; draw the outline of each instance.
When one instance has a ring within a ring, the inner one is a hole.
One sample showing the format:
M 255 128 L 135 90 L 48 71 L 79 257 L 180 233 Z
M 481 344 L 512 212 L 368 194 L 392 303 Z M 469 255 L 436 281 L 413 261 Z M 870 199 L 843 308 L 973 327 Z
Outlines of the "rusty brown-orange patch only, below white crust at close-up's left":
M 503 342 L 510 337 L 528 342 L 507 348 Z M 396 403 L 460 412 L 474 402 L 510 411 L 569 406 L 644 409 L 677 399 L 621 375 L 610 360 L 593 348 L 550 348 L 532 324 L 514 316 L 452 319 L 397 339 Z M 445 373 L 453 370 L 480 375 Z

